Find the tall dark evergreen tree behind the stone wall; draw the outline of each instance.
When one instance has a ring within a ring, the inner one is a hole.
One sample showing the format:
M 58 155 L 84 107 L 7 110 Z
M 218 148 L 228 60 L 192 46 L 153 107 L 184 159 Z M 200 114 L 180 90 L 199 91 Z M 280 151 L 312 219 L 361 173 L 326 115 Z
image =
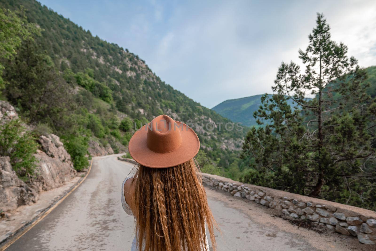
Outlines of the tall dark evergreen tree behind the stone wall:
M 269 124 L 246 137 L 243 157 L 252 155 L 256 164 L 244 180 L 376 207 L 366 200 L 376 198 L 376 101 L 365 93 L 365 71 L 347 57 L 347 46 L 331 40 L 322 14 L 316 23 L 308 47 L 299 50 L 305 70 L 282 62 L 276 94 L 265 95 L 254 114 L 260 125 Z M 308 94 L 315 98 L 306 99 Z

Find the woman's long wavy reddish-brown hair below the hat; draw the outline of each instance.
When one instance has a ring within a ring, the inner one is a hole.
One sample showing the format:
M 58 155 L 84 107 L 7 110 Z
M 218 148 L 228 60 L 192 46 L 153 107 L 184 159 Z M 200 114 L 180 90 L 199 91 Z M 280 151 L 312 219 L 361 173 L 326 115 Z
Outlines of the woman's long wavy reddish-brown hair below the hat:
M 206 250 L 205 223 L 214 251 L 218 229 L 194 159 L 168 168 L 136 170 L 132 196 L 139 250 Z M 209 251 L 209 250 L 206 250 Z

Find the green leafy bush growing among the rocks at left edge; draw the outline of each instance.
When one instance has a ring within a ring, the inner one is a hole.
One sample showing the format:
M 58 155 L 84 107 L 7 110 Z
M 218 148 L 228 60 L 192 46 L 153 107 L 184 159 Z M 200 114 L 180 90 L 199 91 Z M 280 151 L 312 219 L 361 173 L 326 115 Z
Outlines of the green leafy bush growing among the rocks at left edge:
M 36 137 L 26 131 L 19 120 L 11 120 L 0 126 L 0 155 L 9 156 L 13 170 L 20 178 L 33 175 L 36 167 L 34 154 L 38 149 Z

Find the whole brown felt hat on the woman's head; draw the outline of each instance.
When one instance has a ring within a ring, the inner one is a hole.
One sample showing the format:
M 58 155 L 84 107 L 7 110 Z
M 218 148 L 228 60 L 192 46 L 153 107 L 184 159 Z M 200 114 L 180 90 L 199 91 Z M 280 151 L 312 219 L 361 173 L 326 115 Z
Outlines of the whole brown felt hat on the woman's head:
M 200 140 L 186 124 L 160 115 L 133 134 L 128 149 L 139 164 L 164 168 L 193 158 L 199 152 Z

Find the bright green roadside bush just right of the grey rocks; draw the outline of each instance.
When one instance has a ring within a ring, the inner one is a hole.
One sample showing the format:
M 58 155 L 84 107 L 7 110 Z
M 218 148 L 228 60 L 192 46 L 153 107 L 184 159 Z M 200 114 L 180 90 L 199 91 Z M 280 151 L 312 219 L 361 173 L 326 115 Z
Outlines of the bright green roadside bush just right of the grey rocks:
M 80 171 L 89 166 L 88 157 L 88 137 L 81 135 L 63 136 L 64 148 L 71 155 L 74 169 Z

